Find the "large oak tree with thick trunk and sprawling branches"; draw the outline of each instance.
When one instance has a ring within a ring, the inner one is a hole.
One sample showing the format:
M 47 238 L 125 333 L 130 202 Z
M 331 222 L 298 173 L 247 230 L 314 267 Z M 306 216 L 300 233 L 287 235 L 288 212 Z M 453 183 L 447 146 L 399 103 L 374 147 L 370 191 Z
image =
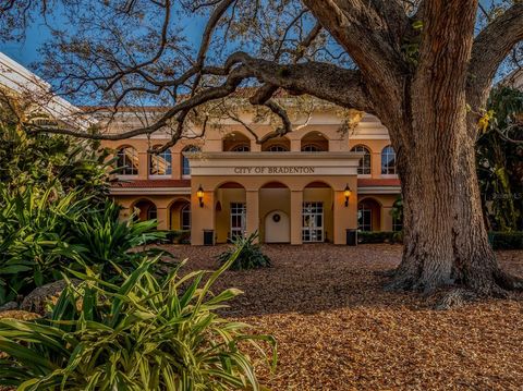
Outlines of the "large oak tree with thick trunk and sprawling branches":
M 397 151 L 404 199 L 405 246 L 391 286 L 522 288 L 488 244 L 474 156 L 494 77 L 523 40 L 521 0 L 488 9 L 478 0 L 0 3 L 4 36 L 35 12 L 47 15 L 56 32 L 44 69 L 61 81 L 59 91 L 114 111 L 138 100 L 168 107 L 118 135 L 56 132 L 121 139 L 169 129 L 167 148 L 203 115 L 202 105 L 245 85 L 256 87 L 252 105 L 281 119 L 280 134 L 292 131 L 273 98 L 281 89 L 376 114 Z M 196 49 L 186 39 L 194 25 L 202 25 Z

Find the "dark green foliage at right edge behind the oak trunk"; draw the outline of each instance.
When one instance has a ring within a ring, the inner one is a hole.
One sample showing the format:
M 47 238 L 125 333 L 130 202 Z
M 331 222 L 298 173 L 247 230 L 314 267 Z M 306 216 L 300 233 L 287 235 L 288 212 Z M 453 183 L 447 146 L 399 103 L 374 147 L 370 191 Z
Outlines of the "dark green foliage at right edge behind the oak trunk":
M 477 173 L 489 229 L 523 230 L 523 93 L 492 89 L 494 117 L 476 143 Z

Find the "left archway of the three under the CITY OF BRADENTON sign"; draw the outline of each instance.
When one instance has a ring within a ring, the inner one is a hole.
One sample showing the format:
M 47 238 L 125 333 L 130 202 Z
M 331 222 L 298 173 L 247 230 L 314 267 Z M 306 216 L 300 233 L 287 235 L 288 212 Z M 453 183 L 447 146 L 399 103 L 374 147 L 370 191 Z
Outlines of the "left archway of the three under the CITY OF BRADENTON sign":
M 238 182 L 226 182 L 215 190 L 216 240 L 226 243 L 245 235 L 247 229 L 246 193 Z

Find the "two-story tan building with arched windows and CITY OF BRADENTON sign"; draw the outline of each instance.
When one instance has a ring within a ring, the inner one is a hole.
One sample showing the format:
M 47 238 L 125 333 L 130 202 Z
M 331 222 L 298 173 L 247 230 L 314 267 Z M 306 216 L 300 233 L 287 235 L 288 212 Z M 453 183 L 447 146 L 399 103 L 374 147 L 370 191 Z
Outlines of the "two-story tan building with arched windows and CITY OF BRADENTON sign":
M 148 150 L 169 140 L 167 131 L 105 142 L 118 157 L 111 194 L 124 217 L 136 212 L 158 219 L 160 229 L 190 230 L 193 245 L 254 231 L 264 243 L 345 244 L 348 229 L 401 230 L 390 213 L 400 182 L 387 129 L 360 113 L 342 132 L 339 108 L 321 102 L 304 114 L 293 99 L 280 102 L 296 130 L 263 143 L 277 124 L 256 120 L 247 105 L 241 122 L 222 119 L 204 135 L 194 129 L 160 155 Z M 161 111 L 129 108 L 106 132 L 135 129 Z

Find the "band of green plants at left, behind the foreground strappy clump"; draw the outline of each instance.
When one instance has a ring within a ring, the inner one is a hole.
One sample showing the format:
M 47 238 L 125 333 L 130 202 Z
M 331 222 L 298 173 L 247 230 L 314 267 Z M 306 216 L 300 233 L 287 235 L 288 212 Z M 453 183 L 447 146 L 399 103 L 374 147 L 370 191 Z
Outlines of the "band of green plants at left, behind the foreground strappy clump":
M 0 304 L 61 279 L 64 268 L 92 266 L 108 280 L 136 257 L 133 247 L 165 237 L 155 221 L 119 221 L 119 207 L 94 207 L 81 192 L 8 190 L 0 183 Z

